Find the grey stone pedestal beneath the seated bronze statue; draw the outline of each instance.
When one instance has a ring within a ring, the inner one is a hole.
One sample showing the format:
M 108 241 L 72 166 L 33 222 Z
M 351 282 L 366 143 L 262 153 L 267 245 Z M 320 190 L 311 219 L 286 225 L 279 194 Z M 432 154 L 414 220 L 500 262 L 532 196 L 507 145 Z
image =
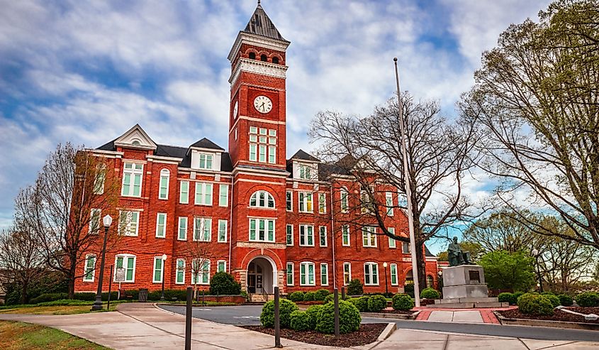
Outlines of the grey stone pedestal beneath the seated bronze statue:
M 428 307 L 470 309 L 476 307 L 507 307 L 496 297 L 488 297 L 482 266 L 460 265 L 443 270 L 443 299 Z

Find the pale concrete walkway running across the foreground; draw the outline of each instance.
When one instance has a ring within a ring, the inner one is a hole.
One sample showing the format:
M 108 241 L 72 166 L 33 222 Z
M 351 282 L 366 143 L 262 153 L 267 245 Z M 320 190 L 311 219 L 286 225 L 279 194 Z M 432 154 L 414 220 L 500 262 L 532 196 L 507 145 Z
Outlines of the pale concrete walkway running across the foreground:
M 116 350 L 183 349 L 184 316 L 151 304 L 122 304 L 118 312 L 49 316 L 0 315 L 0 319 L 43 324 L 62 329 Z M 193 349 L 254 350 L 273 347 L 274 337 L 226 324 L 193 320 Z M 339 349 L 281 339 L 285 349 Z M 598 342 L 547 341 L 508 337 L 470 336 L 398 329 L 385 341 L 352 349 L 598 349 Z

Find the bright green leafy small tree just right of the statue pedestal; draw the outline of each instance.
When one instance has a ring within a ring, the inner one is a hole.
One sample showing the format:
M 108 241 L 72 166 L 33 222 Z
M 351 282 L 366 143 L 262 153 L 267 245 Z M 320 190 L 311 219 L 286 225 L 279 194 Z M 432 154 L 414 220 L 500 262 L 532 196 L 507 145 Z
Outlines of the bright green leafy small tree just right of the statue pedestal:
M 534 258 L 525 253 L 492 251 L 479 262 L 489 288 L 529 290 L 534 283 Z

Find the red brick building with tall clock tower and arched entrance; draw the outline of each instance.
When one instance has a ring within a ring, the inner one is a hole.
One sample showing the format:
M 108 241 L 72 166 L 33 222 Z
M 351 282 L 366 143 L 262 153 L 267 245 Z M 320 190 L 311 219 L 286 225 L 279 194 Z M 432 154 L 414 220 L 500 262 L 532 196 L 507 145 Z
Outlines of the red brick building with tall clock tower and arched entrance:
M 125 269 L 123 288 L 158 290 L 162 278 L 167 289 L 208 288 L 219 270 L 250 293 L 271 293 L 273 285 L 332 290 L 354 278 L 364 292 L 397 292 L 410 280 L 408 245 L 381 235 L 374 223 L 352 222 L 359 188 L 350 171 L 301 150 L 286 159 L 288 46 L 258 5 L 228 56 L 228 152 L 207 138 L 188 147 L 158 145 L 139 125 L 91 150 L 121 177 L 111 213 L 124 218 L 121 239 L 106 266 Z M 398 189 L 380 186 L 391 204 L 386 226 L 407 235 Z M 190 247 L 205 258 L 190 258 Z M 435 283 L 437 261 L 426 256 L 427 280 Z M 96 269 L 99 259 L 90 253 L 77 291 L 96 290 Z

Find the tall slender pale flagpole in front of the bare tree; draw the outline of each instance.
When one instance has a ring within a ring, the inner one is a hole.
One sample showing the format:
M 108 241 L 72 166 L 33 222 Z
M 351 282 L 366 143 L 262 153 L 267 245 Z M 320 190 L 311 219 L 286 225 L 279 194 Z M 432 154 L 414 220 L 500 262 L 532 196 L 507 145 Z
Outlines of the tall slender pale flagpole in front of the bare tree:
M 420 307 L 420 288 L 418 286 L 418 266 L 416 266 L 416 242 L 414 236 L 414 216 L 412 210 L 412 188 L 410 187 L 410 172 L 408 170 L 408 152 L 405 148 L 405 127 L 403 125 L 403 104 L 401 102 L 401 93 L 399 90 L 399 71 L 397 68 L 397 58 L 395 62 L 395 79 L 397 83 L 397 99 L 399 106 L 399 126 L 401 130 L 401 156 L 403 158 L 403 182 L 405 183 L 405 196 L 408 197 L 408 226 L 410 229 L 410 251 L 412 253 L 412 275 L 414 278 L 414 299 L 416 307 Z M 420 247 L 422 249 L 422 247 Z

